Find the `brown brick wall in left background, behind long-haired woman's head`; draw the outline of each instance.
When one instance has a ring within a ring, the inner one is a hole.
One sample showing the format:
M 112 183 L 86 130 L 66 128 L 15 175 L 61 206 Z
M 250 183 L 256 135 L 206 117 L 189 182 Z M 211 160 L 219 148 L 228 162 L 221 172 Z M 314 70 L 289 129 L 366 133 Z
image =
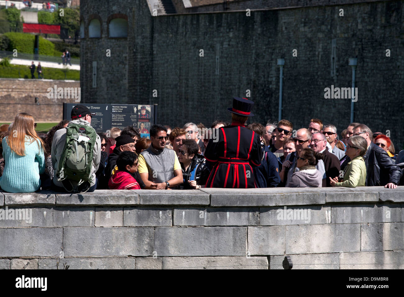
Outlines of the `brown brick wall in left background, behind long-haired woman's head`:
M 63 102 L 75 99 L 48 99 L 48 88 L 80 88 L 80 82 L 72 80 L 31 80 L 0 78 L 0 122 L 12 122 L 20 112 L 31 114 L 36 122 L 63 120 Z M 64 94 L 63 94 L 64 96 Z M 35 103 L 38 97 L 39 104 Z

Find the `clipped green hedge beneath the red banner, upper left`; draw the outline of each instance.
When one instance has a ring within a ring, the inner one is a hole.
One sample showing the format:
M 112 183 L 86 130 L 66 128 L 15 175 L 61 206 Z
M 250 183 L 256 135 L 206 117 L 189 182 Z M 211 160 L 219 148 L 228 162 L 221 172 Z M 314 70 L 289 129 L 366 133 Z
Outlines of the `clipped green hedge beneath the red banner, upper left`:
M 17 32 L 4 33 L 10 41 L 8 43 L 8 51 L 13 51 L 14 48 L 21 53 L 34 53 L 35 35 Z M 55 44 L 39 36 L 39 54 L 53 56 Z

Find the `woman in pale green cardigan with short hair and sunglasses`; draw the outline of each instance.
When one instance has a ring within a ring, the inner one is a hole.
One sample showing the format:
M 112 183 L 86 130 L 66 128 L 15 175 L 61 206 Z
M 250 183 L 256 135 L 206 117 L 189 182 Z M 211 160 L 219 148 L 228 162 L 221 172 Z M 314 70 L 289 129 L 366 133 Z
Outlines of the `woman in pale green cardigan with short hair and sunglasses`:
M 364 187 L 366 181 L 366 165 L 363 155 L 366 153 L 368 143 L 358 135 L 351 136 L 348 139 L 347 155 L 351 161 L 344 169 L 344 177 L 341 182 L 338 182 L 338 177 L 330 179 L 330 185 L 333 187 Z

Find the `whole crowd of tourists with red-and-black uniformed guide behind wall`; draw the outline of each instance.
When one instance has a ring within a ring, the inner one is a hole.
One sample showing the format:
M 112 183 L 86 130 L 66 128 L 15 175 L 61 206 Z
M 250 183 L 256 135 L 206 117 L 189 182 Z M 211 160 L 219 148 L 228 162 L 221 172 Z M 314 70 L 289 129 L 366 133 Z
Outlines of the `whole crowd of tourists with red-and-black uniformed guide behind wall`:
M 127 126 L 96 133 L 95 115 L 76 105 L 71 120 L 37 133 L 34 118 L 15 116 L 0 126 L 0 187 L 11 193 L 39 190 L 191 190 L 201 187 L 360 187 L 402 185 L 404 151 L 368 126 L 351 123 L 339 135 L 313 118 L 294 129 L 288 120 L 247 120 L 254 103 L 233 99 L 231 122 L 208 128 L 155 124 L 149 138 Z M 340 137 L 341 136 L 341 137 Z

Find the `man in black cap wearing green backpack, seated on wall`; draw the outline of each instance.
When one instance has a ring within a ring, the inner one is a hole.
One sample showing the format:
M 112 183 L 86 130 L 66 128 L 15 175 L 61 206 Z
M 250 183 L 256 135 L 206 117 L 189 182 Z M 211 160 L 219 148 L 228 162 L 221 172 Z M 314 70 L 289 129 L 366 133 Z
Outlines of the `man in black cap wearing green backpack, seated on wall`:
M 54 190 L 58 192 L 93 192 L 101 158 L 101 139 L 90 126 L 95 113 L 84 105 L 72 109 L 72 121 L 55 132 L 52 141 Z

